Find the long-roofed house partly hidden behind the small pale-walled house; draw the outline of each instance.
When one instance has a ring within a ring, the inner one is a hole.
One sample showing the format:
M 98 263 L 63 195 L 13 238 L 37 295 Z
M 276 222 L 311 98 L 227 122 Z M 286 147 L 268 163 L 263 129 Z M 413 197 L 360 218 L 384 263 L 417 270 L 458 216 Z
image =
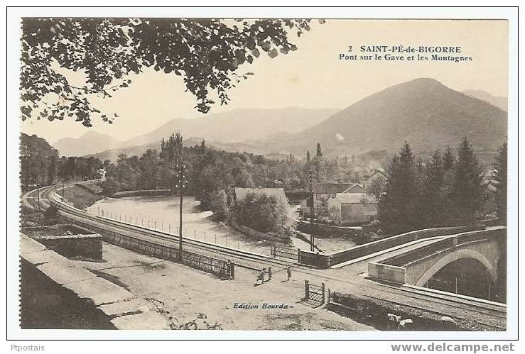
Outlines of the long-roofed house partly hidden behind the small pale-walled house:
M 312 186 L 313 214 L 325 216 L 328 213 L 328 199 L 337 193 L 364 193 L 364 187 L 358 183 L 316 183 Z M 310 215 L 312 203 L 310 197 L 301 201 L 301 212 L 304 216 Z

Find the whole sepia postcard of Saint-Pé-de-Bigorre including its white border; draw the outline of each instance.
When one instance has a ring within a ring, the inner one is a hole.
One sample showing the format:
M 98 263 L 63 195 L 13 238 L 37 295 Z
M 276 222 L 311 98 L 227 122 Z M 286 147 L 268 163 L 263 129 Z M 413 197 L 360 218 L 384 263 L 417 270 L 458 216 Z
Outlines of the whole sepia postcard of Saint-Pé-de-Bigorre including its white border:
M 11 10 L 8 333 L 516 336 L 517 11 Z

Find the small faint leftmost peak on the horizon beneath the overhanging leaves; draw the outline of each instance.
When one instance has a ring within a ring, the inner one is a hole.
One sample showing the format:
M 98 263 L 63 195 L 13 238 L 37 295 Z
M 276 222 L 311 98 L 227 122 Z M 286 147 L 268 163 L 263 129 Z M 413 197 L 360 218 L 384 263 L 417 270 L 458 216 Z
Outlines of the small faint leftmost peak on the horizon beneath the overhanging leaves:
M 118 148 L 122 142 L 110 135 L 89 131 L 80 138 L 62 138 L 53 144 L 60 156 L 83 156 Z

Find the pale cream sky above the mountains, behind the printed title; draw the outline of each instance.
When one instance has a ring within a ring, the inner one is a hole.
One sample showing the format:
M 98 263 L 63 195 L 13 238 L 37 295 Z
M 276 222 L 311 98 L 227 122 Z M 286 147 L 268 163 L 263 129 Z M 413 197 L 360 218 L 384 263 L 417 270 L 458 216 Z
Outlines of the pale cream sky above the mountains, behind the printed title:
M 212 106 L 207 114 L 233 109 L 285 107 L 344 109 L 359 99 L 394 84 L 418 77 L 432 77 L 445 86 L 463 91 L 476 89 L 494 96 L 507 96 L 507 21 L 460 20 L 328 20 L 313 21 L 310 32 L 291 42 L 298 46 L 288 55 L 271 59 L 261 54 L 254 63 L 242 65 L 239 73 L 254 76 L 229 91 L 230 103 Z M 340 60 L 352 45 L 450 45 L 461 46 L 471 62 L 387 62 Z M 72 80 L 82 79 L 74 77 Z M 88 131 L 127 140 L 153 131 L 173 118 L 197 118 L 196 101 L 181 77 L 148 69 L 131 77 L 128 89 L 110 99 L 92 99 L 102 112 L 117 113 L 109 125 L 97 118 L 92 128 L 72 120 L 29 119 L 21 131 L 37 134 L 50 143 L 76 138 Z

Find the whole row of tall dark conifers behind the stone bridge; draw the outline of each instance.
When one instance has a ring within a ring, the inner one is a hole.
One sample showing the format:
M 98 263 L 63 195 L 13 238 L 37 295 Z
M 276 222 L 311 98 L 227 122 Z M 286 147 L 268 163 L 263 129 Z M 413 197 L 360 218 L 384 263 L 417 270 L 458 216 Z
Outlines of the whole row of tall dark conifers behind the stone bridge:
M 501 182 L 494 183 L 502 219 L 507 205 L 506 161 L 504 145 L 497 157 Z M 387 170 L 386 186 L 379 197 L 379 221 L 388 233 L 473 223 L 481 216 L 488 191 L 482 166 L 466 136 L 457 156 L 448 147 L 427 160 L 416 160 L 405 142 Z

